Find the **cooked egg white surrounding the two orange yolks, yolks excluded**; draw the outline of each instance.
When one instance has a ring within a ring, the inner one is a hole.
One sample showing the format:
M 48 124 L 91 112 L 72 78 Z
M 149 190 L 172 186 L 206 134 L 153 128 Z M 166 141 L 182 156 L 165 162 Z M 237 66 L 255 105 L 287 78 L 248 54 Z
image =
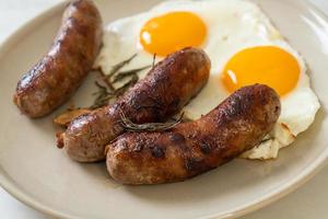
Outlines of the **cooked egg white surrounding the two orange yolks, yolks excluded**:
M 281 115 L 274 129 L 262 143 L 242 154 L 248 159 L 272 159 L 280 148 L 292 143 L 296 136 L 314 122 L 319 102 L 309 87 L 309 78 L 304 58 L 293 49 L 260 8 L 246 0 L 178 0 L 163 2 L 148 12 L 117 20 L 105 28 L 104 46 L 95 66 L 104 72 L 126 60 L 138 56 L 125 67 L 134 69 L 152 62 L 153 55 L 144 51 L 139 44 L 142 25 L 154 16 L 172 11 L 190 11 L 207 24 L 208 36 L 201 48 L 209 55 L 212 68 L 210 79 L 203 90 L 183 111 L 190 119 L 209 113 L 230 95 L 219 81 L 227 60 L 237 51 L 254 47 L 273 45 L 292 54 L 301 67 L 300 80 L 295 89 L 281 97 Z M 167 30 L 169 31 L 169 30 Z M 156 61 L 163 57 L 157 57 Z M 142 78 L 147 70 L 141 72 Z

